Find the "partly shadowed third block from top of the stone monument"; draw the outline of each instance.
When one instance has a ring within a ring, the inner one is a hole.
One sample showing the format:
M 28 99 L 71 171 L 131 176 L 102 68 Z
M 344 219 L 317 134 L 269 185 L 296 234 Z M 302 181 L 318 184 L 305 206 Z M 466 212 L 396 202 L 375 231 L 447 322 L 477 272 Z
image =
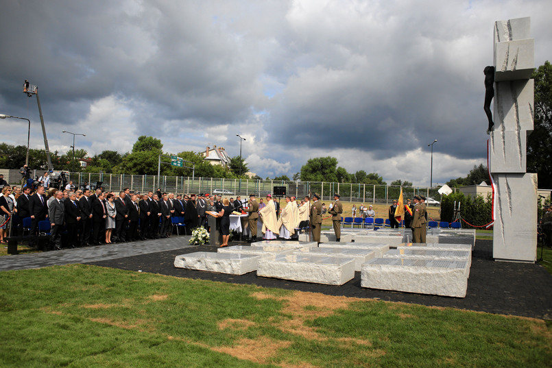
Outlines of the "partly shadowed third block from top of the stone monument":
M 494 130 L 533 131 L 533 79 L 496 82 L 494 85 Z

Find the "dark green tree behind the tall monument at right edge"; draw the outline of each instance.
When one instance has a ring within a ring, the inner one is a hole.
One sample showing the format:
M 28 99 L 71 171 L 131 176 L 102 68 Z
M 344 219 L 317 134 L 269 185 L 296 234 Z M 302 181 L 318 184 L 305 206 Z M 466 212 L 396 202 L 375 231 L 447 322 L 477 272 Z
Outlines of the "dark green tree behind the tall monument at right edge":
M 527 137 L 527 172 L 538 174 L 539 188 L 552 188 L 552 65 L 547 60 L 533 72 L 533 133 Z

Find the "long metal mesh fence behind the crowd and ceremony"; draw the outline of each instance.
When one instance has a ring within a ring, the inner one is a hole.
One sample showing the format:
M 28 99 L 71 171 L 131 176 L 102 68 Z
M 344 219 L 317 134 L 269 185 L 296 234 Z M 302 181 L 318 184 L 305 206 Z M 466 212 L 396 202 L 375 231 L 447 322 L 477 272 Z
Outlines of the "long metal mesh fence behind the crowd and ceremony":
M 265 197 L 274 193 L 275 186 L 283 186 L 287 195 L 302 198 L 305 195 L 318 193 L 322 200 L 333 199 L 333 193 L 341 195 L 341 201 L 355 201 L 363 203 L 389 204 L 397 199 L 400 194 L 400 186 L 332 183 L 332 182 L 286 182 L 282 180 L 245 180 L 224 179 L 218 177 L 184 177 L 184 176 L 160 176 L 157 175 L 125 175 L 104 173 L 69 173 L 69 179 L 73 184 L 81 186 L 88 182 L 95 187 L 97 182 L 109 191 L 121 191 L 123 188 L 131 188 L 136 192 L 156 191 L 160 188 L 164 192 L 173 193 L 215 193 L 224 197 L 236 195 L 248 196 L 255 194 Z M 455 188 L 453 188 L 455 190 Z M 422 194 L 440 201 L 441 195 L 437 188 L 422 186 L 403 186 L 403 197 L 412 198 L 413 195 Z

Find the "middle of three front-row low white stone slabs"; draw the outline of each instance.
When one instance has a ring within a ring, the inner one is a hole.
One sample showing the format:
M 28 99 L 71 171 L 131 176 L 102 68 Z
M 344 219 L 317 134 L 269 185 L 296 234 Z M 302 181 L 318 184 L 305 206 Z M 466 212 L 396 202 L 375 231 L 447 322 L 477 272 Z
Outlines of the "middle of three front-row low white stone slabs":
M 343 285 L 355 277 L 355 260 L 328 256 L 290 254 L 259 260 L 257 276 L 316 284 Z

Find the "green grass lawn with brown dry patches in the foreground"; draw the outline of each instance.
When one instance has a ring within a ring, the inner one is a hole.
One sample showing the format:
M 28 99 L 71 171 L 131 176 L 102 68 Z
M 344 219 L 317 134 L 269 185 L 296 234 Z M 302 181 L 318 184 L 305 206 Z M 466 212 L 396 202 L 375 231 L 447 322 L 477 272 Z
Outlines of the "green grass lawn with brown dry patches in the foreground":
M 169 266 L 170 267 L 170 266 Z M 0 367 L 545 367 L 542 320 L 86 265 L 0 273 Z

